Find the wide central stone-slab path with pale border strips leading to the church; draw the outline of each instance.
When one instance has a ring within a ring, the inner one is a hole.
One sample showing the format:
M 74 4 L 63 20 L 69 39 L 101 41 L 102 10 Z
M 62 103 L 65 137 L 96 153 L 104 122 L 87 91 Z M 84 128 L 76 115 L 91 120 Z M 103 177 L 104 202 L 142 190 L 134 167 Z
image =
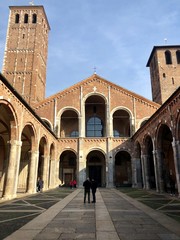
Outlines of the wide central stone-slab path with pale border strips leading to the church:
M 6 240 L 180 240 L 180 224 L 116 189 L 83 203 L 77 189 Z

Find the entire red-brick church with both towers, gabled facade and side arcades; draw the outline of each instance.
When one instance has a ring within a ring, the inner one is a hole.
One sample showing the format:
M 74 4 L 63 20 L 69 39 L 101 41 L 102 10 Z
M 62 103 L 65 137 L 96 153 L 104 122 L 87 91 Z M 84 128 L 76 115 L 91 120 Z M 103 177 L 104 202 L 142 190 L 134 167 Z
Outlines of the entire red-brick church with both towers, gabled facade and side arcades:
M 153 101 L 94 73 L 45 98 L 48 33 L 43 6 L 11 6 L 0 74 L 0 192 L 132 186 L 180 194 L 180 45 L 147 62 Z

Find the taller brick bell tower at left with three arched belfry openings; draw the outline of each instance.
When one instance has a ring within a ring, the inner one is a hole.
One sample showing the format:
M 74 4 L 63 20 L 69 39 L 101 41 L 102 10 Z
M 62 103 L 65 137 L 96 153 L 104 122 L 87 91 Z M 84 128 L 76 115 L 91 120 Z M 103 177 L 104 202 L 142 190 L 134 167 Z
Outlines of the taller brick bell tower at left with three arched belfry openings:
M 45 98 L 48 33 L 43 6 L 10 6 L 3 75 L 33 105 Z

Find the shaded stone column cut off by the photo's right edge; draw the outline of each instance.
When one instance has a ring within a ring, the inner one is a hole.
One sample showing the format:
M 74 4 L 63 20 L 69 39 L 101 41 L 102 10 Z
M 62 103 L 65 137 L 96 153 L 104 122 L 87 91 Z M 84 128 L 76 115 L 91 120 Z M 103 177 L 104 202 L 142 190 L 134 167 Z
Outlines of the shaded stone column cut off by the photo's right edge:
M 178 195 L 180 196 L 180 142 L 173 139 L 172 147 L 174 153 L 174 166 L 176 173 L 177 189 Z

